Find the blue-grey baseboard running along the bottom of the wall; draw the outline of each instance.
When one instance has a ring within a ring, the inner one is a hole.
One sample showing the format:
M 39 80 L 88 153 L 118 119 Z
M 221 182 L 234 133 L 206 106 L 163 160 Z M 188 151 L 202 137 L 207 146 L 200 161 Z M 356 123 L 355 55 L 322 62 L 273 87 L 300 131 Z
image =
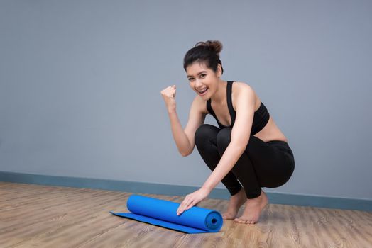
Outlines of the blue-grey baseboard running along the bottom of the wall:
M 187 193 L 197 190 L 197 187 L 192 186 L 153 184 L 109 179 L 89 179 L 70 176 L 48 176 L 8 171 L 0 171 L 0 181 L 75 188 L 95 188 L 109 191 L 126 191 L 131 193 L 152 193 L 167 196 L 185 196 Z M 269 202 L 273 204 L 372 211 L 372 200 L 366 199 L 307 196 L 300 194 L 270 192 L 268 192 L 267 195 Z M 228 199 L 229 192 L 226 189 L 215 188 L 208 197 Z

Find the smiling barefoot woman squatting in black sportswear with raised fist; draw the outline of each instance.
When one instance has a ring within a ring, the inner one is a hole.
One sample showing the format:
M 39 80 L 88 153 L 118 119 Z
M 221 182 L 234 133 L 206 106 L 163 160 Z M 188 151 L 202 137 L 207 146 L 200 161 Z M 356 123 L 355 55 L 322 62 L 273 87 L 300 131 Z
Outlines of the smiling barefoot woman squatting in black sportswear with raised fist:
M 187 79 L 197 93 L 185 130 L 177 118 L 176 86 L 161 91 L 180 154 L 191 154 L 196 145 L 212 170 L 202 188 L 185 197 L 177 215 L 207 198 L 221 181 L 231 194 L 223 218 L 254 224 L 268 204 L 261 187 L 285 184 L 295 169 L 295 160 L 287 138 L 251 86 L 221 79 L 221 49 L 219 41 L 207 40 L 197 43 L 185 55 Z M 218 128 L 204 124 L 208 113 L 217 120 Z M 244 203 L 243 215 L 236 218 Z

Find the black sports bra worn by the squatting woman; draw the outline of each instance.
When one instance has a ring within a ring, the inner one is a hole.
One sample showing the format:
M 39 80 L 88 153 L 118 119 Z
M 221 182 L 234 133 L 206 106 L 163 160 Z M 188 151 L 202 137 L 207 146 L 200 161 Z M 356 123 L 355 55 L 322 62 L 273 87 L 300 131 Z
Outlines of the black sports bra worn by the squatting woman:
M 211 115 L 213 115 L 214 119 L 216 119 L 217 124 L 219 125 L 219 128 L 232 128 L 235 123 L 236 112 L 232 106 L 232 101 L 231 101 L 231 89 L 232 89 L 233 82 L 234 81 L 227 81 L 227 89 L 226 89 L 227 107 L 229 108 L 229 113 L 231 117 L 231 125 L 229 126 L 222 125 L 217 119 L 217 116 L 212 109 L 211 99 L 209 98 L 209 100 L 207 101 L 207 110 L 209 111 Z M 256 133 L 260 132 L 265 127 L 265 125 L 268 123 L 269 118 L 270 118 L 270 114 L 268 113 L 268 109 L 261 102 L 260 108 L 258 108 L 258 110 L 254 112 L 251 135 L 255 135 Z

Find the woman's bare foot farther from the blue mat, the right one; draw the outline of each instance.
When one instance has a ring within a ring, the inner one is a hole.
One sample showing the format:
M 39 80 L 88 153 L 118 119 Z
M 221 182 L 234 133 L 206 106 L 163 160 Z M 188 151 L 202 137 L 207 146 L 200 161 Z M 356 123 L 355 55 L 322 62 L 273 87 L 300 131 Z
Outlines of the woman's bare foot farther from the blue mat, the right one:
M 261 191 L 260 196 L 247 200 L 243 215 L 235 218 L 234 221 L 244 224 L 254 224 L 260 218 L 261 211 L 266 205 L 268 205 L 268 196 L 266 196 L 265 192 Z

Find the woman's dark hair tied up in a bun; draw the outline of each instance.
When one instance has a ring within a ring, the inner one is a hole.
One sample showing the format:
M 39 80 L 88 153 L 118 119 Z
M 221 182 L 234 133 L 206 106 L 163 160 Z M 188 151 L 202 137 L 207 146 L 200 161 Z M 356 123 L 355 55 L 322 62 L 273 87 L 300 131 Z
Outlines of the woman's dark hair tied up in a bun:
M 219 40 L 207 40 L 199 41 L 195 44 L 195 47 L 192 47 L 186 52 L 185 57 L 183 58 L 183 69 L 194 63 L 201 62 L 212 69 L 214 72 L 217 72 L 217 65 L 221 64 L 222 73 L 224 73 L 224 68 L 222 68 L 222 62 L 219 60 L 219 52 L 222 50 L 222 43 Z

